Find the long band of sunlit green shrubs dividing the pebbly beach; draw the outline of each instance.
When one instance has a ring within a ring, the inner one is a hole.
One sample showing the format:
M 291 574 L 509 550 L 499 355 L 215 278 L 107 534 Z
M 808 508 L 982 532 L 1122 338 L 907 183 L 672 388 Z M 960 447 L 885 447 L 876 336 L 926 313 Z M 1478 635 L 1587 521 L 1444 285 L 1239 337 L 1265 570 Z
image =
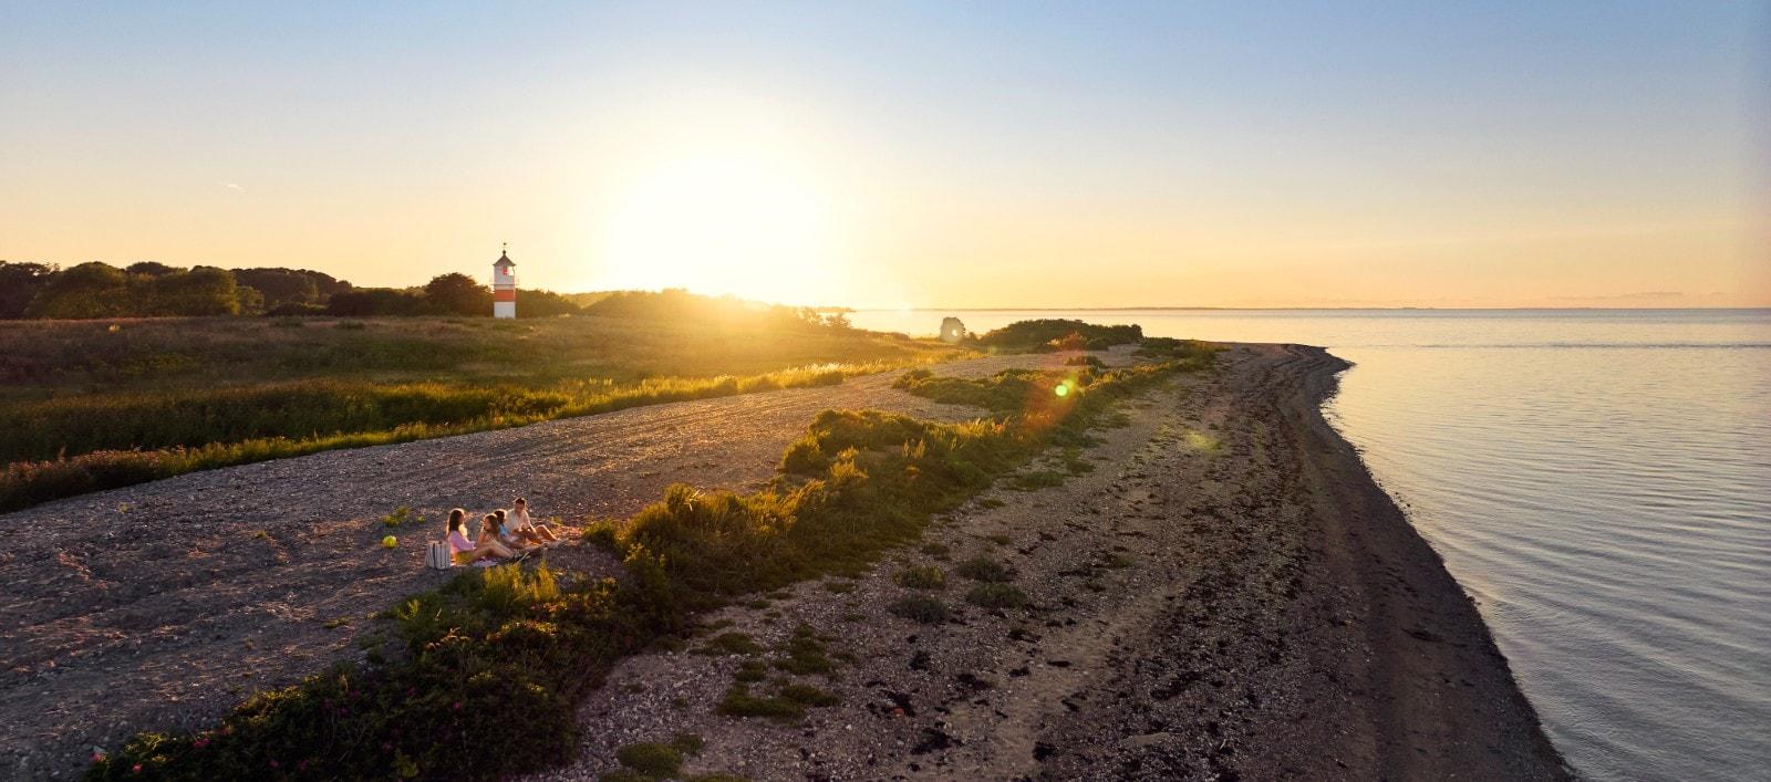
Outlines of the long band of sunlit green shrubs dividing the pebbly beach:
M 586 538 L 623 561 L 620 584 L 561 586 L 544 568 L 462 573 L 395 607 L 404 656 L 340 665 L 255 695 L 205 731 L 138 734 L 87 777 L 498 778 L 537 771 L 570 757 L 577 699 L 622 656 L 682 633 L 698 610 L 739 594 L 857 571 L 887 547 L 914 540 L 930 515 L 955 508 L 1045 446 L 1084 437 L 1110 400 L 1174 368 L 1109 372 L 1057 414 L 1017 410 L 942 425 L 827 410 L 793 446 L 818 458 L 795 460 L 790 449 L 762 492 L 678 485 L 630 520 L 593 525 Z M 1054 373 L 1036 384 L 1063 380 Z M 979 593 L 974 602 L 1011 605 L 1009 598 Z M 522 736 L 522 752 L 462 752 L 489 734 Z

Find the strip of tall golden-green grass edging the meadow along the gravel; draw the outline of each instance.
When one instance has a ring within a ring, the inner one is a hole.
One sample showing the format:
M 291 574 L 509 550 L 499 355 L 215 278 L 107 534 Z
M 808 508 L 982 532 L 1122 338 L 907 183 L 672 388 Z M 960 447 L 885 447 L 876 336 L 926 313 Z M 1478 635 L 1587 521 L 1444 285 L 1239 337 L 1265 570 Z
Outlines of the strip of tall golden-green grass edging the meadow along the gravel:
M 55 418 L 55 432 L 85 433 L 96 441 L 163 437 L 175 441 L 175 444 L 158 449 L 104 449 L 37 462 L 11 462 L 0 467 L 0 511 L 202 469 L 340 448 L 460 435 L 664 402 L 705 400 L 777 387 L 836 386 L 845 377 L 880 368 L 880 364 L 820 364 L 751 377 L 650 379 L 632 386 L 577 382 L 549 391 L 510 389 L 503 393 L 436 386 L 243 389 L 239 393 L 198 395 L 189 398 L 184 407 L 174 405 L 174 410 L 184 412 L 182 416 L 165 410 L 154 412 L 159 405 L 156 400 L 115 409 L 89 405 L 80 398 L 57 400 L 50 405 L 66 405 L 74 412 Z M 230 400 L 236 403 L 228 403 Z M 305 418 L 308 414 L 329 419 L 335 428 L 386 425 L 400 418 L 420 419 L 395 423 L 390 428 L 342 430 L 313 437 L 251 435 L 253 432 L 296 428 L 308 421 Z M 21 421 L 18 439 L 32 442 L 34 437 L 51 437 L 43 433 L 48 426 L 51 425 L 44 425 L 41 419 L 35 423 Z M 205 437 L 198 432 L 237 432 L 244 439 L 177 444 Z M 21 446 L 14 446 L 14 449 L 21 449 Z

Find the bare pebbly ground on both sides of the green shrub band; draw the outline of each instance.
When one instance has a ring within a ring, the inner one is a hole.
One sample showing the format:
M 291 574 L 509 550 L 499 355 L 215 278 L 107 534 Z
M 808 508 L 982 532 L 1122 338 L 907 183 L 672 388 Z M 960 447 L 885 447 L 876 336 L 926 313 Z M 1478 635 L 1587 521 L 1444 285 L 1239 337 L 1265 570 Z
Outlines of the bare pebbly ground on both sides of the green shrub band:
M 620 747 L 678 732 L 705 741 L 689 771 L 753 778 L 1564 777 L 1472 602 L 1323 421 L 1344 366 L 1236 345 L 1126 405 L 1125 426 L 1082 451 L 1093 471 L 992 490 L 937 520 L 937 547 L 862 579 L 705 617 L 769 649 L 827 639 L 843 662 L 806 681 L 839 704 L 795 724 L 724 717 L 744 655 L 646 653 L 583 704 L 576 764 L 544 777 L 597 778 Z M 4 515 L 41 534 L 0 556 L 0 770 L 66 778 L 136 729 L 198 727 L 361 656 L 368 614 L 443 579 L 418 561 L 448 506 L 521 487 L 540 515 L 629 515 L 673 481 L 758 485 L 827 407 L 978 414 L 889 380 L 321 453 Z M 395 506 L 427 525 L 375 548 Z M 887 610 L 907 593 L 900 570 L 978 554 L 1013 570 L 1025 609 L 969 605 L 949 577 L 947 621 Z M 549 557 L 615 571 L 588 547 Z

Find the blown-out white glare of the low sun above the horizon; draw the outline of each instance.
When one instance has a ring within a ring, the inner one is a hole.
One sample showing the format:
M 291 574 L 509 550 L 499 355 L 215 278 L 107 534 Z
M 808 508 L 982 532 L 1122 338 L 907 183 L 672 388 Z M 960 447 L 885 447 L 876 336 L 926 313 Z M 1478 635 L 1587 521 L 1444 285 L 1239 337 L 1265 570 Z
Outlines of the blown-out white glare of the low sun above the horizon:
M 827 195 L 790 157 L 742 150 L 659 163 L 607 216 L 606 281 L 788 304 L 838 292 Z

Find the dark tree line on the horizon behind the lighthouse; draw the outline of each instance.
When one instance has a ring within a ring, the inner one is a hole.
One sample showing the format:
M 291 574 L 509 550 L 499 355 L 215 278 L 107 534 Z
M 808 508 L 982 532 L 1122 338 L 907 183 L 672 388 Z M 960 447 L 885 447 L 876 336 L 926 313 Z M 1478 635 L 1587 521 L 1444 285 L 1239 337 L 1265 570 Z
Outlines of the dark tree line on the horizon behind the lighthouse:
M 547 290 L 519 294 L 519 317 L 576 315 L 572 297 Z M 439 274 L 414 288 L 360 288 L 312 269 L 189 269 L 158 262 L 115 267 L 103 262 L 0 260 L 0 320 L 128 318 L 214 315 L 468 315 L 491 317 L 492 290 L 466 274 Z

